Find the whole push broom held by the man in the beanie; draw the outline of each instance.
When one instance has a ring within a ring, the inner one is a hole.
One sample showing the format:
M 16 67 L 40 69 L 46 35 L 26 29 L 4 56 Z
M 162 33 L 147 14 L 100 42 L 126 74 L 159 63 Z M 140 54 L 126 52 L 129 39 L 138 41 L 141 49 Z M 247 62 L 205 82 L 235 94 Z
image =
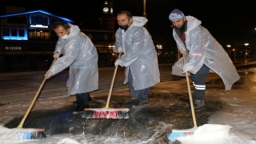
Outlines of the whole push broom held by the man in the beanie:
M 182 50 L 182 54 L 183 54 L 183 62 L 184 62 L 184 64 L 186 64 L 186 58 L 185 58 L 186 53 L 183 50 Z M 186 73 L 187 89 L 188 89 L 189 97 L 190 97 L 190 108 L 191 108 L 191 112 L 192 112 L 194 128 L 186 129 L 186 130 L 172 130 L 172 133 L 168 135 L 168 139 L 170 139 L 171 141 L 174 141 L 176 138 L 178 138 L 180 136 L 192 135 L 192 134 L 194 134 L 194 131 L 198 129 L 195 114 L 194 114 L 194 105 L 193 105 L 193 100 L 192 100 L 192 94 L 191 94 L 191 90 L 190 90 L 190 80 L 189 80 L 189 76 L 187 74 L 187 71 L 185 73 Z

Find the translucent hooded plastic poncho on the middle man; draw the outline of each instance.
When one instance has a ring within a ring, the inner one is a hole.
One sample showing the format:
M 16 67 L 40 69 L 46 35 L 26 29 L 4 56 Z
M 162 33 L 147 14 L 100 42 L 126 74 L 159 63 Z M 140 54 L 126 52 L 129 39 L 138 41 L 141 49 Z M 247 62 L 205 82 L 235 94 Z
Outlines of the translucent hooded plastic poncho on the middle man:
M 126 79 L 128 82 L 128 71 L 133 74 L 134 90 L 143 90 L 160 82 L 158 70 L 158 55 L 149 32 L 146 30 L 144 17 L 133 17 L 133 23 L 124 32 L 118 29 L 115 38 L 114 52 L 122 48 L 120 66 L 126 66 Z

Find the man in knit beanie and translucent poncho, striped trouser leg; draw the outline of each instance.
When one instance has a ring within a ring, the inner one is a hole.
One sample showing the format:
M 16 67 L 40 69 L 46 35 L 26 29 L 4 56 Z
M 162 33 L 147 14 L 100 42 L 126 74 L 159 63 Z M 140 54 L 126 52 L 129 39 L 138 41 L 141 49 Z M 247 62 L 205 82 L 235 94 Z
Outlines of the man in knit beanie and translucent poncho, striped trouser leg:
M 190 72 L 194 84 L 194 110 L 199 110 L 205 106 L 205 78 L 210 70 L 222 78 L 225 90 L 230 90 L 240 77 L 226 51 L 201 26 L 201 21 L 192 16 L 185 17 L 178 9 L 170 13 L 169 19 L 173 24 L 171 27 L 174 28 L 173 36 L 178 50 L 186 53 L 186 64 L 180 58 L 172 67 L 172 74 L 184 76 L 185 72 Z

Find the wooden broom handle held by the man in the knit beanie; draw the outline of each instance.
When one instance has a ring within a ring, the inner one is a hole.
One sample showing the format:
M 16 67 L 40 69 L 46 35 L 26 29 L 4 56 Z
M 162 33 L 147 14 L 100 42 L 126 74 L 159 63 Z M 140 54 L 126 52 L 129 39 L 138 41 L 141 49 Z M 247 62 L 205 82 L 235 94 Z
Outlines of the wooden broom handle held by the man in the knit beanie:
M 183 62 L 184 62 L 184 64 L 186 64 L 186 58 L 185 58 L 186 54 L 183 50 L 182 50 L 182 54 L 183 54 Z M 187 90 L 189 91 L 189 96 L 190 96 L 190 107 L 191 107 L 191 111 L 192 111 L 192 118 L 193 118 L 194 126 L 197 126 L 197 121 L 195 119 L 195 114 L 194 114 L 194 105 L 193 105 L 193 101 L 192 101 L 192 94 L 191 94 L 191 90 L 190 90 L 190 79 L 187 74 L 187 71 L 185 73 L 186 73 Z

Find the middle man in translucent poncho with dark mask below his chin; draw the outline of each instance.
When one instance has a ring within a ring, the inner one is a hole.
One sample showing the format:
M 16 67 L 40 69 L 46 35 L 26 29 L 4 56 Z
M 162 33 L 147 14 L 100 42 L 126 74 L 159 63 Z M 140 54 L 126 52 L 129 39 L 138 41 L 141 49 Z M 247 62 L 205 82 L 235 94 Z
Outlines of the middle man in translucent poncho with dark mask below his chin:
M 132 17 L 128 11 L 120 11 L 117 15 L 118 30 L 115 34 L 114 52 L 122 56 L 114 62 L 117 66 L 126 66 L 126 79 L 130 90 L 130 98 L 124 102 L 135 102 L 135 106 L 148 103 L 150 86 L 160 82 L 158 55 L 149 32 L 143 27 L 147 19 Z

